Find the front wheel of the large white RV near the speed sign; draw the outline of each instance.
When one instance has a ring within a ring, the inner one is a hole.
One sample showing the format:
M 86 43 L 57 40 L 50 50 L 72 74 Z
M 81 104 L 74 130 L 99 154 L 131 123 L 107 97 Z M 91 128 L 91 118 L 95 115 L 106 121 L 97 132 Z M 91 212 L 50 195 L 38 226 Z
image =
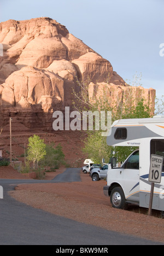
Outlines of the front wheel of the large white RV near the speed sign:
M 124 191 L 120 187 L 116 187 L 110 194 L 110 202 L 114 208 L 125 209 L 126 199 Z

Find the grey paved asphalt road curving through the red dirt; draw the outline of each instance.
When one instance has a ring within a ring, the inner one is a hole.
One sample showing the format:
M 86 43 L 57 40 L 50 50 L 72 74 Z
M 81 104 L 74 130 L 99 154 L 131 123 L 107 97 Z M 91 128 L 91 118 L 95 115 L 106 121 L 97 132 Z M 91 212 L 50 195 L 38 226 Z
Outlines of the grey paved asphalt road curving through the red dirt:
M 68 168 L 51 182 L 80 181 L 79 169 Z M 160 245 L 161 243 L 122 235 L 75 222 L 18 202 L 8 195 L 18 183 L 50 181 L 0 179 L 0 245 Z M 12 185 L 13 184 L 13 185 Z

